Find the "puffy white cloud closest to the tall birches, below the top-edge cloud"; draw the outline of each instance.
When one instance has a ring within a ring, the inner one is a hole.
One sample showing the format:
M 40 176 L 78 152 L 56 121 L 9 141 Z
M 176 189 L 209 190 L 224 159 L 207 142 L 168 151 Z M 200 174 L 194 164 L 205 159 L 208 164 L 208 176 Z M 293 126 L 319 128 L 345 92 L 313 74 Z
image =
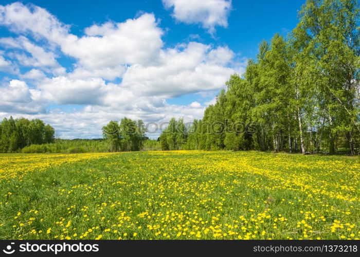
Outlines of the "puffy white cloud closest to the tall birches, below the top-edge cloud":
M 228 63 L 233 53 L 228 48 L 210 49 L 209 45 L 190 42 L 162 50 L 159 65 L 129 67 L 122 85 L 143 95 L 164 97 L 221 89 L 235 71 L 220 64 Z M 224 53 L 220 63 L 214 60 L 217 52 Z

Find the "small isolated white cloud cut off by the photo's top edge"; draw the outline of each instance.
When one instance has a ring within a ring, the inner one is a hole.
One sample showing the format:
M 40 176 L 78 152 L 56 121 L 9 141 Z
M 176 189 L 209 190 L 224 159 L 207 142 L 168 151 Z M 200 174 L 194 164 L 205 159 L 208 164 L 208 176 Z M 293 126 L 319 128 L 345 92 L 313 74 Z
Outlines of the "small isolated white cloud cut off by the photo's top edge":
M 213 34 L 215 26 L 227 27 L 231 0 L 163 0 L 165 8 L 173 8 L 172 16 L 186 24 L 201 24 Z

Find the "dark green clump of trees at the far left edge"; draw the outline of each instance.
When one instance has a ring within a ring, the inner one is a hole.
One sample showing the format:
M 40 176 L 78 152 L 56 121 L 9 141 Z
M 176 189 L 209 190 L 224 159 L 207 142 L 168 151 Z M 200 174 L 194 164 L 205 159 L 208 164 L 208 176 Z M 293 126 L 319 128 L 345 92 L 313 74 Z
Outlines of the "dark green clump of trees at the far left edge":
M 0 153 L 20 151 L 31 144 L 51 143 L 55 130 L 42 120 L 5 118 L 0 123 Z

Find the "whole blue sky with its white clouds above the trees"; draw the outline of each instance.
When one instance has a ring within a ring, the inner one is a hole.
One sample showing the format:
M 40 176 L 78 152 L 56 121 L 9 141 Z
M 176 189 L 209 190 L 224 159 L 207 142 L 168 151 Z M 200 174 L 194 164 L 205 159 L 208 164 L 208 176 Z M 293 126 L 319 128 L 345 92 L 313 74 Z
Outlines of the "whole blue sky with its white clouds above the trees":
M 199 119 L 303 3 L 1 0 L 0 118 L 41 118 L 63 138 L 124 116 Z

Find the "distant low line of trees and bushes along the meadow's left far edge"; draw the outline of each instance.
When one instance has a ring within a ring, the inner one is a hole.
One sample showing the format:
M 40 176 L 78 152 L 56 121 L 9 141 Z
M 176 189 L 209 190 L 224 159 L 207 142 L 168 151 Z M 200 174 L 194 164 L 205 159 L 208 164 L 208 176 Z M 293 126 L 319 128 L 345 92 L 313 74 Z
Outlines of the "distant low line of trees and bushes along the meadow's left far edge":
M 55 139 L 55 130 L 42 120 L 5 118 L 0 122 L 0 153 L 89 153 L 161 150 L 158 140 L 145 136 L 141 120 L 123 118 L 103 127 L 99 139 Z

